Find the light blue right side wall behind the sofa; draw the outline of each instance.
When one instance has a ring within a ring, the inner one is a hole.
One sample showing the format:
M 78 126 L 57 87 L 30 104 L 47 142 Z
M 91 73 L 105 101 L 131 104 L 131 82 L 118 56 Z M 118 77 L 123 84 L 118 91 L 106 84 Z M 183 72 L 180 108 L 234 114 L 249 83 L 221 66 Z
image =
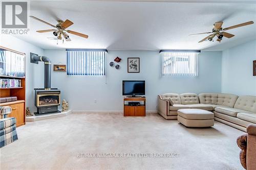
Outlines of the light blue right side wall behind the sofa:
M 256 60 L 256 40 L 223 51 L 223 93 L 256 95 L 256 76 L 252 76 L 253 60 Z

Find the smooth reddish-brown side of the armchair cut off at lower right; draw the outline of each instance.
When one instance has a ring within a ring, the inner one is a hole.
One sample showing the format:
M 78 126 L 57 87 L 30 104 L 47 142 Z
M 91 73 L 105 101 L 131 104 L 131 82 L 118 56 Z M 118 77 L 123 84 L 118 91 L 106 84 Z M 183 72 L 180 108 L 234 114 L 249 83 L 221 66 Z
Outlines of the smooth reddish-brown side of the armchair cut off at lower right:
M 247 153 L 246 153 L 246 167 L 248 170 L 256 169 L 256 126 L 249 125 L 247 127 Z

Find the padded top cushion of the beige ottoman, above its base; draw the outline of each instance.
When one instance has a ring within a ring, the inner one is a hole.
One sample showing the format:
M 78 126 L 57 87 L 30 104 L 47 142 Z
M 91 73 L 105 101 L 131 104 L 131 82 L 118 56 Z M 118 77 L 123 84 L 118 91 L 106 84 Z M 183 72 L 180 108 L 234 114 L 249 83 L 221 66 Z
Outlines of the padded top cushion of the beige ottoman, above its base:
M 202 109 L 179 109 L 178 116 L 186 119 L 214 119 L 214 113 Z

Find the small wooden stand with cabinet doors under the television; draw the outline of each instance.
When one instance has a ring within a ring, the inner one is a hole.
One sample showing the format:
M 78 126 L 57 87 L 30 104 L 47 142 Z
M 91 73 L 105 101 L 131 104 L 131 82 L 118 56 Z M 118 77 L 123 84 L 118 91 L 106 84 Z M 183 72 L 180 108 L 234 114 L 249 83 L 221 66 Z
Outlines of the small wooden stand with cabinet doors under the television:
M 143 104 L 140 106 L 129 106 L 125 104 L 125 101 L 142 101 Z M 146 116 L 146 98 L 138 97 L 125 97 L 123 98 L 123 116 Z

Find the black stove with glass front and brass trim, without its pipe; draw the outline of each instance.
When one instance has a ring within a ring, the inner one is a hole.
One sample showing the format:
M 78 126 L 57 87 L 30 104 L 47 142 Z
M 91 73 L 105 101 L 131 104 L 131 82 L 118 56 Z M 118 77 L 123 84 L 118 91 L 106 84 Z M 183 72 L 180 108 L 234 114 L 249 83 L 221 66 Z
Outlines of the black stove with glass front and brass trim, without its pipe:
M 59 113 L 60 90 L 52 88 L 51 90 L 35 89 L 35 114 Z

